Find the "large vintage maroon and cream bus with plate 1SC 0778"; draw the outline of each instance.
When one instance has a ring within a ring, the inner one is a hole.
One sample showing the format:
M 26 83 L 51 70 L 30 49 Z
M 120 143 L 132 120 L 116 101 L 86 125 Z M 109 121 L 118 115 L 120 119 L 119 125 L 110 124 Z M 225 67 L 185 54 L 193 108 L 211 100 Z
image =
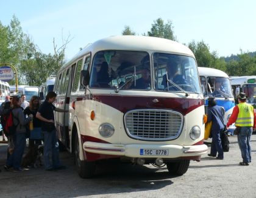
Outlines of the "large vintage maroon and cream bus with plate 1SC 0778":
M 58 138 L 82 178 L 106 159 L 166 164 L 182 175 L 190 160 L 207 153 L 196 60 L 182 44 L 148 36 L 101 39 L 59 70 L 54 91 L 55 106 L 69 109 L 55 112 Z

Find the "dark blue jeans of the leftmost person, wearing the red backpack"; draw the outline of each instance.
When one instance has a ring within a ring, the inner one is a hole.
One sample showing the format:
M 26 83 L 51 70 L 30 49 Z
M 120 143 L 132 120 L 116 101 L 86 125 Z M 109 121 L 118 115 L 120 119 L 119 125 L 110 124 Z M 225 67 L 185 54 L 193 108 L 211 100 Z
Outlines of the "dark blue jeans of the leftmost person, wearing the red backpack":
M 7 159 L 6 165 L 20 168 L 24 149 L 26 146 L 26 133 L 16 132 L 14 135 L 14 151 Z

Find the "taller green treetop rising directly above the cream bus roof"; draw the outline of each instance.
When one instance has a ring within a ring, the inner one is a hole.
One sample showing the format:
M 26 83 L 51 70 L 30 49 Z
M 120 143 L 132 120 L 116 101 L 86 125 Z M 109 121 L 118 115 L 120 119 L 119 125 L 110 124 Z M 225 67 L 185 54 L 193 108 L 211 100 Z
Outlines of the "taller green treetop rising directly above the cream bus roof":
M 168 20 L 168 22 L 165 24 L 162 18 L 158 18 L 156 21 L 154 21 L 151 31 L 148 32 L 148 36 L 155 36 L 177 41 L 176 36 L 174 36 L 172 21 Z

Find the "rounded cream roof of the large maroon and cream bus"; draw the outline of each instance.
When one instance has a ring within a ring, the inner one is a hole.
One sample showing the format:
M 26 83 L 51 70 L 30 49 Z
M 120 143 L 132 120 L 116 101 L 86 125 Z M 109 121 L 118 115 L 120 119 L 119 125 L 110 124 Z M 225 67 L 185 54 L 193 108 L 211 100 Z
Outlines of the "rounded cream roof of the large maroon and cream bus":
M 108 38 L 100 39 L 93 44 L 88 45 L 82 49 L 77 55 L 69 60 L 63 67 L 69 66 L 82 56 L 91 52 L 94 53 L 101 50 L 132 50 L 132 51 L 145 51 L 145 52 L 163 52 L 163 53 L 176 53 L 180 55 L 188 55 L 194 58 L 193 52 L 183 44 L 177 43 L 164 38 L 156 38 L 152 36 L 110 36 Z

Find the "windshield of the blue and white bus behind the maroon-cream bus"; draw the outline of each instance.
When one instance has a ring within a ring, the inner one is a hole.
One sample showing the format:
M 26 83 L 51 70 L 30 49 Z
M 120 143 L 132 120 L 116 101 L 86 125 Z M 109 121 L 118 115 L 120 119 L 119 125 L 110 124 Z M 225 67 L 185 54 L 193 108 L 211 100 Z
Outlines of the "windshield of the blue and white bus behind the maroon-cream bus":
M 200 77 L 201 88 L 204 96 L 212 95 L 216 98 L 232 98 L 229 78 Z

